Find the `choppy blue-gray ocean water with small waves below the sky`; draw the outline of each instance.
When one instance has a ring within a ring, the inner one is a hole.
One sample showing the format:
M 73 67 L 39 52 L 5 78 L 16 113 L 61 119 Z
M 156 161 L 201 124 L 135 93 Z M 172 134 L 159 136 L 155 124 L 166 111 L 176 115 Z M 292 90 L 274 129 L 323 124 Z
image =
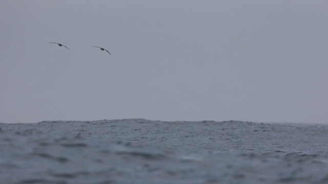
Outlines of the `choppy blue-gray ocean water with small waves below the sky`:
M 0 183 L 328 183 L 328 125 L 0 123 Z

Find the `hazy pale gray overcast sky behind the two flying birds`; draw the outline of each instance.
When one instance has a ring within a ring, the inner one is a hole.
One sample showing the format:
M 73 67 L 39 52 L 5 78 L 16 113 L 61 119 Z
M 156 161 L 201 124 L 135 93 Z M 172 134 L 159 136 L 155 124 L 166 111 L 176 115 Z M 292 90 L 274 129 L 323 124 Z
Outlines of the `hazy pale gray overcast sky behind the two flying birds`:
M 326 0 L 0 2 L 0 122 L 328 123 Z

